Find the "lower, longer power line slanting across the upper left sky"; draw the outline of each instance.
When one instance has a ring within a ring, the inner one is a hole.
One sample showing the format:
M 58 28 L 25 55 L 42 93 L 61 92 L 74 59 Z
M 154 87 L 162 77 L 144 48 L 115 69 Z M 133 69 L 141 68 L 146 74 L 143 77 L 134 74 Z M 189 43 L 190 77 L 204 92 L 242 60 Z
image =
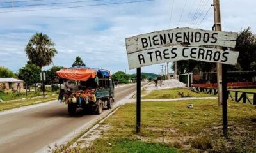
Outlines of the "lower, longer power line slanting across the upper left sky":
M 60 8 L 42 8 L 42 9 L 31 9 L 31 10 L 0 11 L 0 13 L 12 13 L 12 12 L 24 12 L 24 11 L 44 11 L 44 10 L 61 10 L 61 9 L 67 9 L 67 8 L 84 8 L 84 7 L 92 7 L 92 6 L 108 6 L 108 5 L 114 5 L 114 4 L 141 3 L 141 2 L 147 2 L 147 1 L 154 1 L 154 0 L 127 1 L 127 2 L 105 3 L 105 4 L 90 4 L 90 5 L 82 5 L 82 6 L 67 6 L 67 7 L 60 7 Z

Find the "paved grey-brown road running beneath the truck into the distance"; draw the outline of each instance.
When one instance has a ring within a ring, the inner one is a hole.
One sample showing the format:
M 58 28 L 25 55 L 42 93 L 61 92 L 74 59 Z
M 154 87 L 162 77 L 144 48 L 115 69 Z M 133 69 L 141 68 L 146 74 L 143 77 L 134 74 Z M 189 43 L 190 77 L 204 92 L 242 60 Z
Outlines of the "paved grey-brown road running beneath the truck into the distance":
M 142 85 L 144 85 L 143 83 Z M 127 98 L 136 85 L 115 89 L 115 99 Z M 104 112 L 103 112 L 104 113 Z M 74 117 L 67 113 L 67 105 L 52 101 L 19 112 L 0 113 L 0 152 L 47 152 L 45 147 L 67 140 L 74 131 L 100 115 L 84 115 L 78 110 Z

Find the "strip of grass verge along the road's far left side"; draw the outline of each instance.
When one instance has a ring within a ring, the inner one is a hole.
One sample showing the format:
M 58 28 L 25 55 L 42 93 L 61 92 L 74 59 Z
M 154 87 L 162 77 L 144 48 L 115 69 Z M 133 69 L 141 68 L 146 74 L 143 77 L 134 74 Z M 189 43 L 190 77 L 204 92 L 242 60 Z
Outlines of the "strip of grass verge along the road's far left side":
M 36 99 L 26 99 L 26 100 L 19 100 L 19 101 L 12 101 L 12 102 L 2 102 L 0 103 L 0 111 L 2 110 L 10 110 L 12 108 L 19 108 L 21 106 L 28 106 L 33 105 L 36 103 L 44 103 L 47 101 L 56 100 L 58 98 L 58 95 L 50 95 L 47 98 L 36 98 Z

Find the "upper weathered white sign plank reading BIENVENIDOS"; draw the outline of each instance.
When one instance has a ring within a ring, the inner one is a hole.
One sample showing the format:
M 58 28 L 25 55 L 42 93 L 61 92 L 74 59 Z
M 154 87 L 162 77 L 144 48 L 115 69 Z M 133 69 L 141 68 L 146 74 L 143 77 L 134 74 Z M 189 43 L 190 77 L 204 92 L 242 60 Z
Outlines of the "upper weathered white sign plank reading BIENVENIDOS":
M 223 46 L 235 48 L 237 33 L 205 31 L 189 27 L 141 34 L 126 38 L 127 54 L 166 46 L 189 45 L 194 47 Z

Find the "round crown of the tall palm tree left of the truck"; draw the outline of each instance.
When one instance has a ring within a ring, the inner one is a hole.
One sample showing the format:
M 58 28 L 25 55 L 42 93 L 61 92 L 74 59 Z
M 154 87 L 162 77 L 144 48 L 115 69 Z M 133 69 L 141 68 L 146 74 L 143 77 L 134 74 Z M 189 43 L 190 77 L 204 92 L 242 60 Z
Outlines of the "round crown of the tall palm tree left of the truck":
M 42 69 L 52 63 L 53 57 L 58 53 L 54 48 L 55 43 L 42 33 L 36 33 L 28 41 L 25 48 L 29 61 Z

